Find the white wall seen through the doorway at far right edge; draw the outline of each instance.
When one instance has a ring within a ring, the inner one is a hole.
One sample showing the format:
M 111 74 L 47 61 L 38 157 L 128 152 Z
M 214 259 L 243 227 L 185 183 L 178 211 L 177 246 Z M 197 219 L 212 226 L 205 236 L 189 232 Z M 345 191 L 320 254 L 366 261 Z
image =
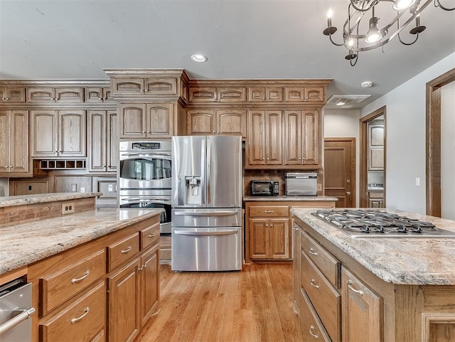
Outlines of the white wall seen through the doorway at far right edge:
M 441 87 L 441 217 L 455 220 L 455 82 Z

